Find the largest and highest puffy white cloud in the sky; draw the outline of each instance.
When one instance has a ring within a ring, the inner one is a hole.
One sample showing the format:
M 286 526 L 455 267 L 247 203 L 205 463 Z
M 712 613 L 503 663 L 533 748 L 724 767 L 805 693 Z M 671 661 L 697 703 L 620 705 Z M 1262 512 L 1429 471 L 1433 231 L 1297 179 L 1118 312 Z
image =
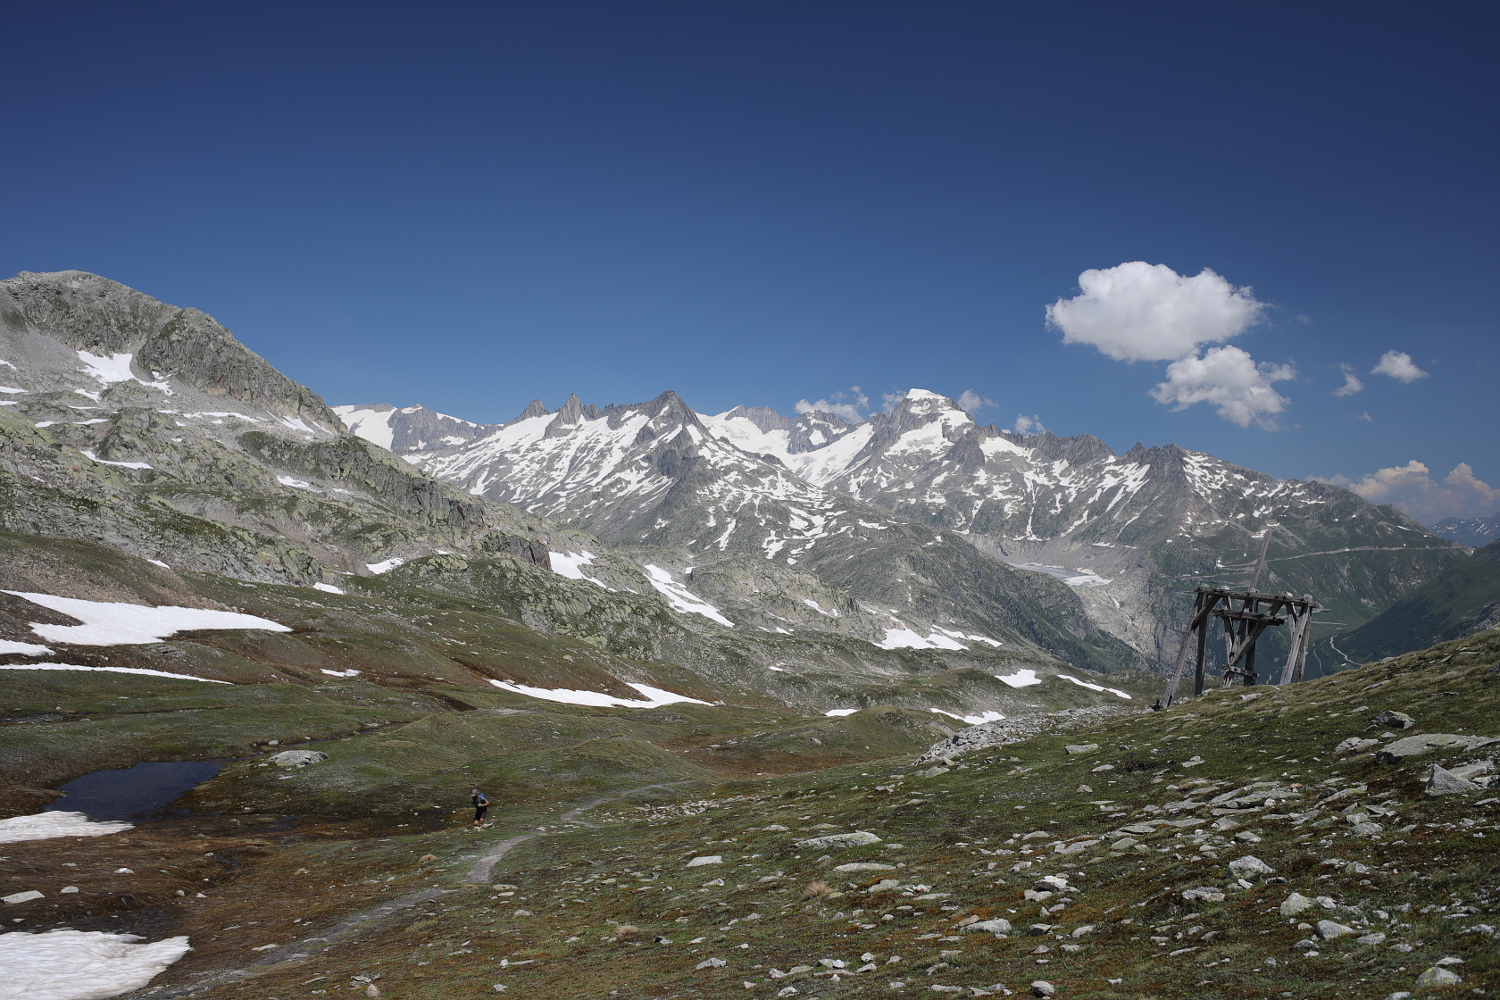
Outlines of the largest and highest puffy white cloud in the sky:
M 1083 271 L 1078 289 L 1047 306 L 1047 325 L 1064 343 L 1092 343 L 1118 361 L 1184 358 L 1244 333 L 1264 309 L 1209 268 L 1184 277 L 1144 261 Z

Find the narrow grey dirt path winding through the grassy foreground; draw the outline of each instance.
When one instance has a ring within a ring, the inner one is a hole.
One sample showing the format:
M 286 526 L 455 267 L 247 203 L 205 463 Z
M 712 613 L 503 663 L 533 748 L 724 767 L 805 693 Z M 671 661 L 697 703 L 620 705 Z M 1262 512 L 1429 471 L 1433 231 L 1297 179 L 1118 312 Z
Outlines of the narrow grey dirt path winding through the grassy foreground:
M 606 802 L 615 802 L 640 792 L 651 792 L 656 789 L 670 789 L 680 784 L 690 784 L 690 783 L 666 781 L 657 784 L 644 784 L 634 789 L 624 789 L 622 792 L 615 792 L 612 795 L 602 795 L 598 798 L 588 799 L 586 802 L 573 807 L 561 817 L 558 817 L 555 820 L 555 825 L 576 823 L 580 826 L 594 826 L 594 823 L 585 823 L 576 817 L 584 813 L 588 813 L 590 810 L 598 808 Z M 474 861 L 474 865 L 464 876 L 464 883 L 483 885 L 489 882 L 489 876 L 495 870 L 495 865 L 500 864 L 500 861 L 512 850 L 514 850 L 518 846 L 525 844 L 526 841 L 536 840 L 538 837 L 550 837 L 554 834 L 561 834 L 561 832 L 562 832 L 561 829 L 538 828 L 536 831 L 531 831 L 530 834 L 518 834 L 516 837 L 508 837 L 500 841 L 498 844 L 492 846 L 489 850 L 486 850 L 482 856 L 478 856 Z M 297 963 L 304 958 L 312 958 L 316 954 L 327 952 L 336 948 L 338 945 L 345 943 L 351 934 L 356 934 L 363 928 L 374 928 L 375 925 L 380 925 L 387 918 L 392 918 L 396 913 L 400 913 L 402 910 L 420 906 L 423 903 L 428 903 L 429 900 L 447 895 L 448 892 L 458 892 L 458 889 L 430 888 L 406 894 L 399 900 L 392 900 L 390 903 L 378 906 L 375 909 L 354 913 L 339 921 L 333 927 L 321 930 L 316 934 L 309 934 L 308 937 L 303 937 L 297 942 L 278 948 L 276 951 L 266 954 L 264 957 L 258 958 L 256 961 L 248 966 L 238 969 L 220 969 L 218 972 L 198 973 L 194 976 L 194 982 L 190 984 L 178 984 L 166 988 L 144 987 L 141 996 L 147 996 L 148 993 L 152 1000 L 171 1000 L 172 997 L 190 997 L 194 994 L 212 990 L 214 987 L 222 987 L 231 982 L 240 982 L 243 979 L 252 979 L 266 972 L 270 972 L 272 969 L 276 969 L 278 966 L 284 966 L 286 963 Z

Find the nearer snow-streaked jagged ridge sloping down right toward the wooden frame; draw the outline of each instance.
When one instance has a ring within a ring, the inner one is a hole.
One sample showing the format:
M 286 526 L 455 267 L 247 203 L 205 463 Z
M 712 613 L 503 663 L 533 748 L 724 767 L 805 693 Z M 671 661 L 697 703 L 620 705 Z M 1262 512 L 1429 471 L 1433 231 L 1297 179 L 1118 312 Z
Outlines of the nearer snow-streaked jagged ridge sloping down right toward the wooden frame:
M 838 430 L 792 423 L 783 450 Z M 484 436 L 405 457 L 472 495 L 590 531 L 762 628 L 818 622 L 882 645 L 1022 643 L 1078 663 L 1136 663 L 1065 586 L 810 483 L 780 456 L 712 433 L 670 391 L 604 409 L 578 397 L 555 412 L 532 405 Z M 768 592 L 795 597 L 771 610 Z

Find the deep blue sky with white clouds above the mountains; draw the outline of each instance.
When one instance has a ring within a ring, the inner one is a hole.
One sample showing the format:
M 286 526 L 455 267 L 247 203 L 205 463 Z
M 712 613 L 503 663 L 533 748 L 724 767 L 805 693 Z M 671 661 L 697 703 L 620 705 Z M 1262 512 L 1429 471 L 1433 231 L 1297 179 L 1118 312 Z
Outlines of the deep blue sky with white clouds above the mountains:
M 1428 520 L 1500 507 L 1492 4 L 6 19 L 0 271 L 198 306 L 328 402 L 921 385 Z

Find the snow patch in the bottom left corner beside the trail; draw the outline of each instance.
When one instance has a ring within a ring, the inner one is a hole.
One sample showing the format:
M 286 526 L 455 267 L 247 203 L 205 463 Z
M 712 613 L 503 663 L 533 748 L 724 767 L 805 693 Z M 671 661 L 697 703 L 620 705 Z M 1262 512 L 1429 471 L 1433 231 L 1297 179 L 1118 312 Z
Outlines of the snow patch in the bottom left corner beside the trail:
M 0 934 L 0 997 L 100 1000 L 140 990 L 192 951 L 186 937 L 150 945 L 135 934 L 57 930 Z

